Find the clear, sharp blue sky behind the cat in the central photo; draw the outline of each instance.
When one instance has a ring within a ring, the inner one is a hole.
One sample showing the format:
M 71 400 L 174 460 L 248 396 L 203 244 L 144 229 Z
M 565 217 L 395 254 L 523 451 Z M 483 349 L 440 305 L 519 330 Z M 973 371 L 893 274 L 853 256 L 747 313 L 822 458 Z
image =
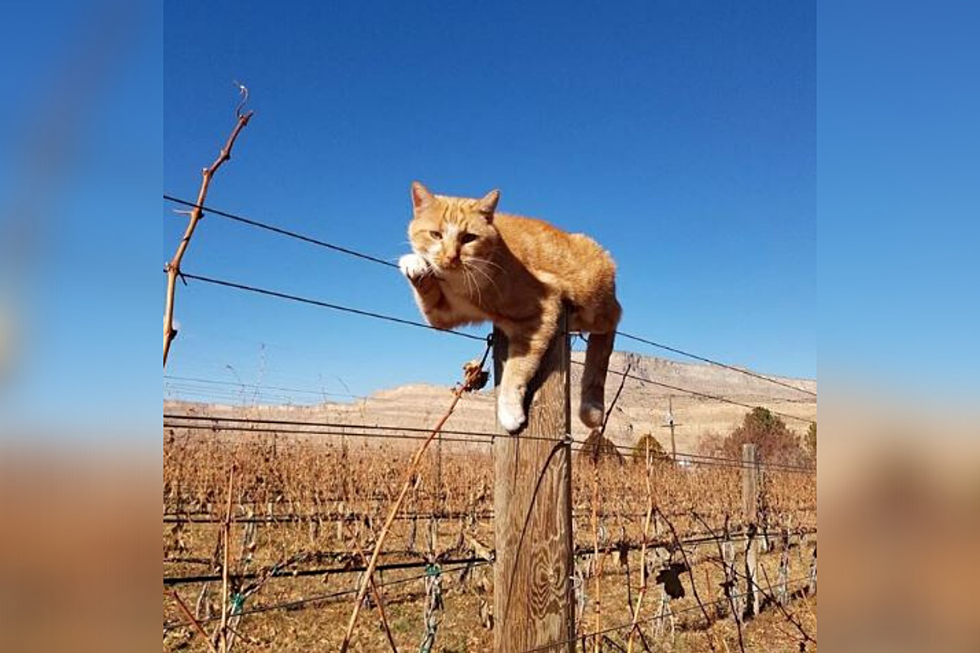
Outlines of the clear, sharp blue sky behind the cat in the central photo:
M 613 253 L 624 330 L 816 375 L 812 3 L 176 1 L 164 15 L 166 192 L 196 193 L 241 80 L 255 118 L 209 204 L 395 260 L 411 180 L 500 188 L 501 210 Z M 170 208 L 163 258 L 184 228 Z M 418 317 L 390 269 L 219 218 L 184 268 Z M 479 353 L 193 282 L 176 314 L 176 376 L 363 393 L 454 381 Z

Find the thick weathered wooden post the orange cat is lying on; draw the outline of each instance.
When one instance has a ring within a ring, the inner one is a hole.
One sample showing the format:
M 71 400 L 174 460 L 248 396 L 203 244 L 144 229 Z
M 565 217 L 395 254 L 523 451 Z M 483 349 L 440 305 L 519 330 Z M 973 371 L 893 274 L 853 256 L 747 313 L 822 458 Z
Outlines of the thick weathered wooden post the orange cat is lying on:
M 507 337 L 494 331 L 500 383 Z M 527 427 L 493 444 L 496 653 L 575 650 L 568 315 L 528 388 Z M 533 438 L 533 439 L 532 439 Z M 549 646 L 551 645 L 551 646 Z

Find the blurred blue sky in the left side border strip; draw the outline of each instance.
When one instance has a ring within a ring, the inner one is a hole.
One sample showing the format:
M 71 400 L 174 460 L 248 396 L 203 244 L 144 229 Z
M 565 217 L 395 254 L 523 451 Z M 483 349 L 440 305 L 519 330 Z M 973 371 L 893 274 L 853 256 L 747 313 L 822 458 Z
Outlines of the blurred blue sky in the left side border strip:
M 5 7 L 0 438 L 158 433 L 162 13 Z

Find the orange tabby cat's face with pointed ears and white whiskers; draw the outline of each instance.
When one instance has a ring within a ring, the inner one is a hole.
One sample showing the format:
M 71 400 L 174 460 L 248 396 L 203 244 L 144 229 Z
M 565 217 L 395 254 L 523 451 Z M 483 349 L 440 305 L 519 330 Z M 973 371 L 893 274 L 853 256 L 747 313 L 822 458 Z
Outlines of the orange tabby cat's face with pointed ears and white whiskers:
M 408 237 L 416 254 L 437 272 L 488 261 L 499 238 L 493 226 L 500 191 L 480 199 L 435 195 L 412 182 L 412 222 Z

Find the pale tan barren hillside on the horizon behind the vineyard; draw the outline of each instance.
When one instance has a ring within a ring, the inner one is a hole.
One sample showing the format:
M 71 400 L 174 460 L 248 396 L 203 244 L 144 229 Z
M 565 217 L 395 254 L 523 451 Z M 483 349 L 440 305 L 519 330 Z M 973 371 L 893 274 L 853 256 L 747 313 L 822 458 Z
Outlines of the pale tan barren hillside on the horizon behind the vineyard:
M 629 354 L 615 352 L 610 369 L 626 367 Z M 745 374 L 720 367 L 680 363 L 653 356 L 631 355 L 631 374 L 659 383 L 718 395 L 742 403 L 759 405 L 807 419 L 816 419 L 816 399 L 802 392 L 767 383 Z M 574 352 L 573 360 L 584 360 L 584 353 Z M 578 413 L 578 385 L 581 366 L 572 366 L 572 435 L 584 440 L 587 429 L 575 417 Z M 809 379 L 773 377 L 797 387 L 817 391 L 817 382 Z M 612 400 L 620 377 L 610 374 L 606 382 L 606 401 Z M 376 424 L 400 427 L 430 427 L 450 401 L 450 388 L 424 384 L 403 385 L 379 390 L 355 403 L 321 403 L 312 406 L 231 406 L 187 401 L 165 401 L 164 411 L 171 414 L 214 415 L 218 417 L 261 417 L 335 422 L 343 424 Z M 668 398 L 673 396 L 673 414 L 680 451 L 694 451 L 700 438 L 711 432 L 726 433 L 736 426 L 746 409 L 740 406 L 685 395 L 675 390 L 627 380 L 613 413 L 607 435 L 618 444 L 631 444 L 643 433 L 653 433 L 669 448 L 670 435 L 662 427 Z M 467 395 L 450 418 L 446 428 L 466 431 L 495 429 L 493 394 L 488 389 Z M 787 426 L 803 433 L 808 426 L 797 420 L 786 420 Z

